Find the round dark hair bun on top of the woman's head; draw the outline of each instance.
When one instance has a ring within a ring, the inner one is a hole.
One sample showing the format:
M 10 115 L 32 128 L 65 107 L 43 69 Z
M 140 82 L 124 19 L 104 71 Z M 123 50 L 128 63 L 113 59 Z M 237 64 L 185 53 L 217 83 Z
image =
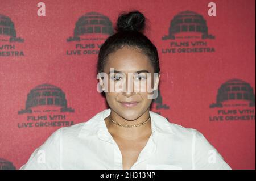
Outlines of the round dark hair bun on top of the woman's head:
M 139 11 L 131 11 L 119 15 L 117 20 L 117 31 L 143 31 L 145 17 Z

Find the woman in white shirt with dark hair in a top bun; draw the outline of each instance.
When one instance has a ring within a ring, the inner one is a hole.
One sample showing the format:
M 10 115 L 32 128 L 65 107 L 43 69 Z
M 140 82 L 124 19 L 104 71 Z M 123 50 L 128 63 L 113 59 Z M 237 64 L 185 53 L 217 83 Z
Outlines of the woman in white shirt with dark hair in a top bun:
M 122 14 L 100 48 L 99 85 L 110 108 L 58 129 L 21 169 L 231 169 L 200 132 L 150 111 L 160 68 L 144 26 L 141 12 Z M 146 82 L 153 88 L 142 91 Z

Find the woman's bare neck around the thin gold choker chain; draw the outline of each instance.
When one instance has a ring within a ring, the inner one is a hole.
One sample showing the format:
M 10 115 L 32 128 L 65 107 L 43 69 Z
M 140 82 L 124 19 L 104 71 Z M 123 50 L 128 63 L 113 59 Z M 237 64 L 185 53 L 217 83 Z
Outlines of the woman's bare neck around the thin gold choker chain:
M 149 108 L 141 116 L 133 121 L 126 120 L 123 117 L 119 116 L 117 113 L 115 113 L 113 110 L 111 110 L 110 115 L 105 118 L 105 123 L 110 134 L 112 134 L 113 136 L 124 138 L 126 140 L 136 140 L 138 138 L 142 138 L 151 134 L 151 119 L 148 120 L 147 123 L 144 125 L 132 128 L 125 128 L 112 123 L 112 121 L 110 121 L 110 116 L 115 122 L 122 125 L 139 124 L 146 121 L 150 116 Z

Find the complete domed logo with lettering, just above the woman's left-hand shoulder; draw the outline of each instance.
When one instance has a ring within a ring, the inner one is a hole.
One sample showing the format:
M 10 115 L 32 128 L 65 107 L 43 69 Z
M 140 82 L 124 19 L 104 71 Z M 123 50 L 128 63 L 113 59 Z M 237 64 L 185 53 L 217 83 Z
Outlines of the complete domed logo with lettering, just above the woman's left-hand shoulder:
M 26 123 L 18 123 L 24 127 L 54 127 L 73 125 L 67 121 L 65 113 L 75 112 L 67 106 L 65 93 L 56 86 L 42 84 L 36 86 L 27 95 L 26 108 L 18 111 L 19 115 L 27 115 Z

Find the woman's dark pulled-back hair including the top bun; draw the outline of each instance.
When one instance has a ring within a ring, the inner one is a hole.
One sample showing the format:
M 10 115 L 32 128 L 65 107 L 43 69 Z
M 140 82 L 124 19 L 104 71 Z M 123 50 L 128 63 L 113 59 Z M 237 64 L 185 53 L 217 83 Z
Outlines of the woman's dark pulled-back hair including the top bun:
M 145 27 L 145 17 L 139 11 L 131 11 L 119 15 L 117 20 L 117 31 L 114 35 L 109 36 L 101 46 L 98 54 L 98 73 L 103 72 L 104 65 L 110 53 L 115 52 L 122 47 L 129 46 L 138 48 L 146 54 L 154 67 L 154 72 L 160 73 L 158 50 L 155 45 L 143 35 Z

